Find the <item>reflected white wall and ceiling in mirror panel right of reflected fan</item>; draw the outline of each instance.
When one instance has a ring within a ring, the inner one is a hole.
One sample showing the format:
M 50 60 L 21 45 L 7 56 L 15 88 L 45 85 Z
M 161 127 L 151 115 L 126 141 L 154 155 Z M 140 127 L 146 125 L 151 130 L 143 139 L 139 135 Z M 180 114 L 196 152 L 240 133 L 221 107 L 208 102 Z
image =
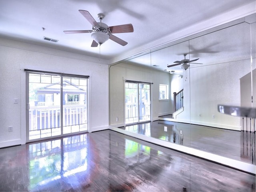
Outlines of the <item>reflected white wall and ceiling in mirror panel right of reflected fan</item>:
M 192 124 L 241 130 L 240 117 L 218 113 L 217 106 L 251 102 L 241 101 L 244 93 L 240 91 L 240 87 L 250 84 L 248 81 L 240 85 L 240 79 L 251 70 L 250 44 L 250 24 L 246 22 L 190 40 L 190 57 L 196 55 L 203 63 L 190 66 L 188 86 L 193 101 L 190 102 Z M 211 47 L 207 48 L 208 45 Z M 204 51 L 196 53 L 202 49 Z

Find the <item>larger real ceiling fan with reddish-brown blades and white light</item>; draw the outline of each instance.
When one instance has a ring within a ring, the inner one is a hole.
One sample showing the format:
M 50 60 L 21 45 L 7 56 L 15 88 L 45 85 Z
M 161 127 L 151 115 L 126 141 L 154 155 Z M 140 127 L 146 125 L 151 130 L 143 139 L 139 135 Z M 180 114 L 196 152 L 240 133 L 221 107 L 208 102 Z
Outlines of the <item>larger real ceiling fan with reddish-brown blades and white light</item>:
M 108 27 L 107 24 L 102 23 L 102 19 L 105 17 L 104 14 L 98 14 L 100 22 L 96 22 L 88 11 L 78 10 L 87 20 L 92 24 L 92 30 L 77 30 L 77 31 L 63 31 L 65 34 L 76 34 L 76 33 L 92 33 L 92 45 L 91 47 L 97 47 L 98 44 L 103 44 L 108 39 L 125 46 L 128 43 L 120 38 L 112 35 L 115 33 L 129 33 L 133 32 L 132 24 L 124 24 L 118 26 Z

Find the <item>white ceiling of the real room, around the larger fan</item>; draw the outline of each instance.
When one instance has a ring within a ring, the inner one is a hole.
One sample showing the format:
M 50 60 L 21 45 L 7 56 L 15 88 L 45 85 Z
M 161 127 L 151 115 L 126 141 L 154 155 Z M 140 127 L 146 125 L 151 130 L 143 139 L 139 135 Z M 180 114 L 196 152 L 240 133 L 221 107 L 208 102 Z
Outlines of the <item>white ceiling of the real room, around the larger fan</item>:
M 253 14 L 255 6 L 255 0 L 0 0 L 0 37 L 111 63 Z M 102 22 L 108 26 L 131 23 L 133 33 L 115 34 L 128 44 L 108 40 L 100 48 L 92 48 L 90 34 L 64 34 L 64 30 L 92 29 L 78 10 L 88 10 L 96 21 L 97 14 L 104 13 Z M 182 51 L 177 54 L 174 61 L 183 59 Z

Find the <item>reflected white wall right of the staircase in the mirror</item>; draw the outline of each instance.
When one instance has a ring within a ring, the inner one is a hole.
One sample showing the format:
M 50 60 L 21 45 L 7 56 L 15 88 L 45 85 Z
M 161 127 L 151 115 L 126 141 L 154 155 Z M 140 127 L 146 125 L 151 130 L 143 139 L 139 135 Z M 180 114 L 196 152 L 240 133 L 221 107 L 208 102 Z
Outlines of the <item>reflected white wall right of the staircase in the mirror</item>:
M 221 114 L 217 106 L 241 106 L 240 78 L 250 72 L 248 63 L 250 60 L 190 68 L 188 81 L 184 83 L 184 112 L 177 119 L 240 131 L 240 117 Z

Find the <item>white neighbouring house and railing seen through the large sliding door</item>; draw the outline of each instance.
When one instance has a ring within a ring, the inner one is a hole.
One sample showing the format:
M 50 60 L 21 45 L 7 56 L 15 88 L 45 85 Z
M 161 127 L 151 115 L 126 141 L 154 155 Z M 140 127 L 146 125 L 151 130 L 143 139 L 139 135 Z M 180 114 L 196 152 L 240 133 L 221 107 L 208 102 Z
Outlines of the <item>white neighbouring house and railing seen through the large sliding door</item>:
M 30 100 L 30 131 L 60 127 L 60 82 L 31 91 L 34 91 L 36 100 Z M 87 123 L 86 95 L 86 89 L 68 80 L 63 81 L 63 126 Z

